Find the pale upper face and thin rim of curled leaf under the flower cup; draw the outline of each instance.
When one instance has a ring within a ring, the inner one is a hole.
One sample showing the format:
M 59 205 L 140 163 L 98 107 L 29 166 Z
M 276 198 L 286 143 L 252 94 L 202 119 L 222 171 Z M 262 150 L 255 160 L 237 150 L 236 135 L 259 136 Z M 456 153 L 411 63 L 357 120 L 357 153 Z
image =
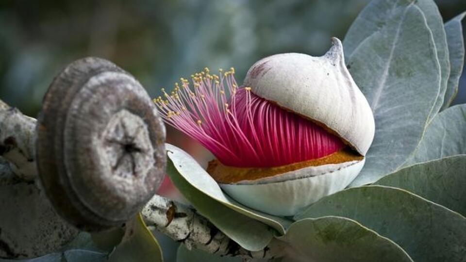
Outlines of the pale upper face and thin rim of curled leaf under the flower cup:
M 173 162 L 177 171 L 175 175 L 181 175 L 192 187 L 211 198 L 212 201 L 221 203 L 238 213 L 258 220 L 276 229 L 281 235 L 291 225 L 289 220 L 282 217 L 262 213 L 236 202 L 223 193 L 217 182 L 189 154 L 170 144 L 166 144 L 166 148 L 167 156 Z

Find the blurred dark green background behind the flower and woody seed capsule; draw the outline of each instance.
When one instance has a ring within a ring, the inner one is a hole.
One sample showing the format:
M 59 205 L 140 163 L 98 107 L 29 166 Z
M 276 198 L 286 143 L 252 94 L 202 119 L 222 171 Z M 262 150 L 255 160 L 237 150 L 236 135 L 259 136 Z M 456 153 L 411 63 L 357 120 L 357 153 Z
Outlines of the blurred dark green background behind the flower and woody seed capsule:
M 267 55 L 323 54 L 368 1 L 2 0 L 0 97 L 36 116 L 53 76 L 84 56 L 115 62 L 151 96 L 205 66 L 234 66 L 242 82 Z M 465 0 L 437 4 L 445 21 L 466 10 Z

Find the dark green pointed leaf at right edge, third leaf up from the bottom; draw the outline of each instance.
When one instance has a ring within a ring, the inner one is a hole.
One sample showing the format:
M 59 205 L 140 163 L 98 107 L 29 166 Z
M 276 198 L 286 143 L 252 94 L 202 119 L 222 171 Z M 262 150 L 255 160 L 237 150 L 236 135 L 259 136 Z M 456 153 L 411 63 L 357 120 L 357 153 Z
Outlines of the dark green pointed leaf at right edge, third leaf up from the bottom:
M 375 184 L 405 189 L 466 216 L 466 155 L 408 166 Z

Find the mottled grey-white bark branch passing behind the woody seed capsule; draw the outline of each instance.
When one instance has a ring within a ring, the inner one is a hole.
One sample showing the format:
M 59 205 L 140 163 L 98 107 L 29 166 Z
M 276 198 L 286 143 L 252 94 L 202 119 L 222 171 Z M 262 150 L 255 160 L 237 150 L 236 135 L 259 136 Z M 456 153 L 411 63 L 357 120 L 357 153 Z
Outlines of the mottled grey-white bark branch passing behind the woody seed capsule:
M 35 166 L 35 123 L 0 100 L 0 157 L 7 160 L 20 180 L 37 177 Z M 5 184 L 5 183 L 3 183 Z M 196 210 L 168 198 L 154 195 L 142 210 L 147 226 L 158 230 L 189 249 L 200 248 L 220 256 L 273 259 L 283 256 L 283 244 L 272 241 L 260 251 L 249 251 L 226 236 Z

